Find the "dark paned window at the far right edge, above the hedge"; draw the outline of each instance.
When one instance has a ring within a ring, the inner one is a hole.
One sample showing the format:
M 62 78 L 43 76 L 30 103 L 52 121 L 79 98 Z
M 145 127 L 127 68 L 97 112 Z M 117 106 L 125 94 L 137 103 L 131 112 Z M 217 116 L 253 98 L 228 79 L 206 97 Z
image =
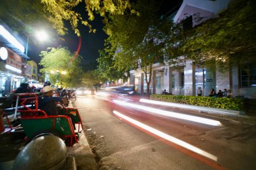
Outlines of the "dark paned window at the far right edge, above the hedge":
M 241 87 L 256 87 L 256 65 L 248 65 L 240 71 Z

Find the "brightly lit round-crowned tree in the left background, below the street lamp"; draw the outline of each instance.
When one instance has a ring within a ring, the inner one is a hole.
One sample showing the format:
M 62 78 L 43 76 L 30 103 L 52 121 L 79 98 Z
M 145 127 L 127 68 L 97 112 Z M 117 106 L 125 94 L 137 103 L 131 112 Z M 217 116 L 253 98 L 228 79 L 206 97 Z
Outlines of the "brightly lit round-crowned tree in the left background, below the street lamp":
M 67 48 L 47 48 L 40 56 L 39 65 L 43 67 L 40 72 L 42 75 L 49 74 L 52 84 L 59 84 L 58 79 L 64 87 L 79 87 L 82 82 L 82 69 L 79 67 L 81 56 L 70 62 L 73 54 Z M 61 74 L 61 71 L 65 71 L 65 74 Z

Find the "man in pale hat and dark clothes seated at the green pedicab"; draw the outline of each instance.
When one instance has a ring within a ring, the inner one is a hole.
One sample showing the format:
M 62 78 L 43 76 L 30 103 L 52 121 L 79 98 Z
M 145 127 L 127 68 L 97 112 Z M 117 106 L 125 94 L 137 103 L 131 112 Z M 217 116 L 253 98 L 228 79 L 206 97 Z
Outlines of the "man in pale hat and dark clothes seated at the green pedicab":
M 46 112 L 47 115 L 59 115 L 57 102 L 65 102 L 65 97 L 53 97 L 53 87 L 47 85 L 42 89 L 42 95 L 38 97 L 38 109 Z M 72 114 L 62 114 L 71 118 L 75 129 L 74 116 Z

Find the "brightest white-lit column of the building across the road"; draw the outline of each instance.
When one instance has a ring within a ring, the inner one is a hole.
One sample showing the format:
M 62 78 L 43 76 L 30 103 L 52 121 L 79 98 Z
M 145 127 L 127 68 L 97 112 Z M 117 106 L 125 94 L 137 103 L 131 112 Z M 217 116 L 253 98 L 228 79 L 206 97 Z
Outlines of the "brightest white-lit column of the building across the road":
M 195 95 L 195 66 L 186 60 L 184 67 L 184 95 Z

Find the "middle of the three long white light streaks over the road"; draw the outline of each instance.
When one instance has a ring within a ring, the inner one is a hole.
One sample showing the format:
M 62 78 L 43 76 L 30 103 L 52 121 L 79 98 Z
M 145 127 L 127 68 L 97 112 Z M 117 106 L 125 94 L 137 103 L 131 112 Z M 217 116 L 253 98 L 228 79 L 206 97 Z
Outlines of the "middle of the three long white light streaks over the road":
M 140 110 L 144 110 L 144 111 L 152 112 L 154 114 L 160 114 L 160 115 L 168 116 L 168 117 L 172 117 L 172 118 L 179 118 L 179 119 L 183 119 L 183 120 L 189 120 L 192 122 L 198 122 L 201 124 L 208 124 L 208 125 L 212 125 L 212 126 L 221 126 L 222 125 L 219 121 L 211 120 L 211 119 L 207 119 L 207 118 L 201 118 L 198 116 L 191 116 L 191 115 L 187 115 L 187 114 L 179 114 L 176 112 L 169 112 L 166 110 L 159 110 L 159 109 L 150 108 L 150 107 L 146 107 L 143 105 L 137 105 L 137 104 L 133 104 L 133 103 L 127 103 L 125 101 L 119 101 L 119 100 L 115 100 L 115 99 L 113 101 L 115 103 L 118 103 L 119 105 L 127 105 L 127 106 L 130 106 L 131 108 L 137 108 Z

